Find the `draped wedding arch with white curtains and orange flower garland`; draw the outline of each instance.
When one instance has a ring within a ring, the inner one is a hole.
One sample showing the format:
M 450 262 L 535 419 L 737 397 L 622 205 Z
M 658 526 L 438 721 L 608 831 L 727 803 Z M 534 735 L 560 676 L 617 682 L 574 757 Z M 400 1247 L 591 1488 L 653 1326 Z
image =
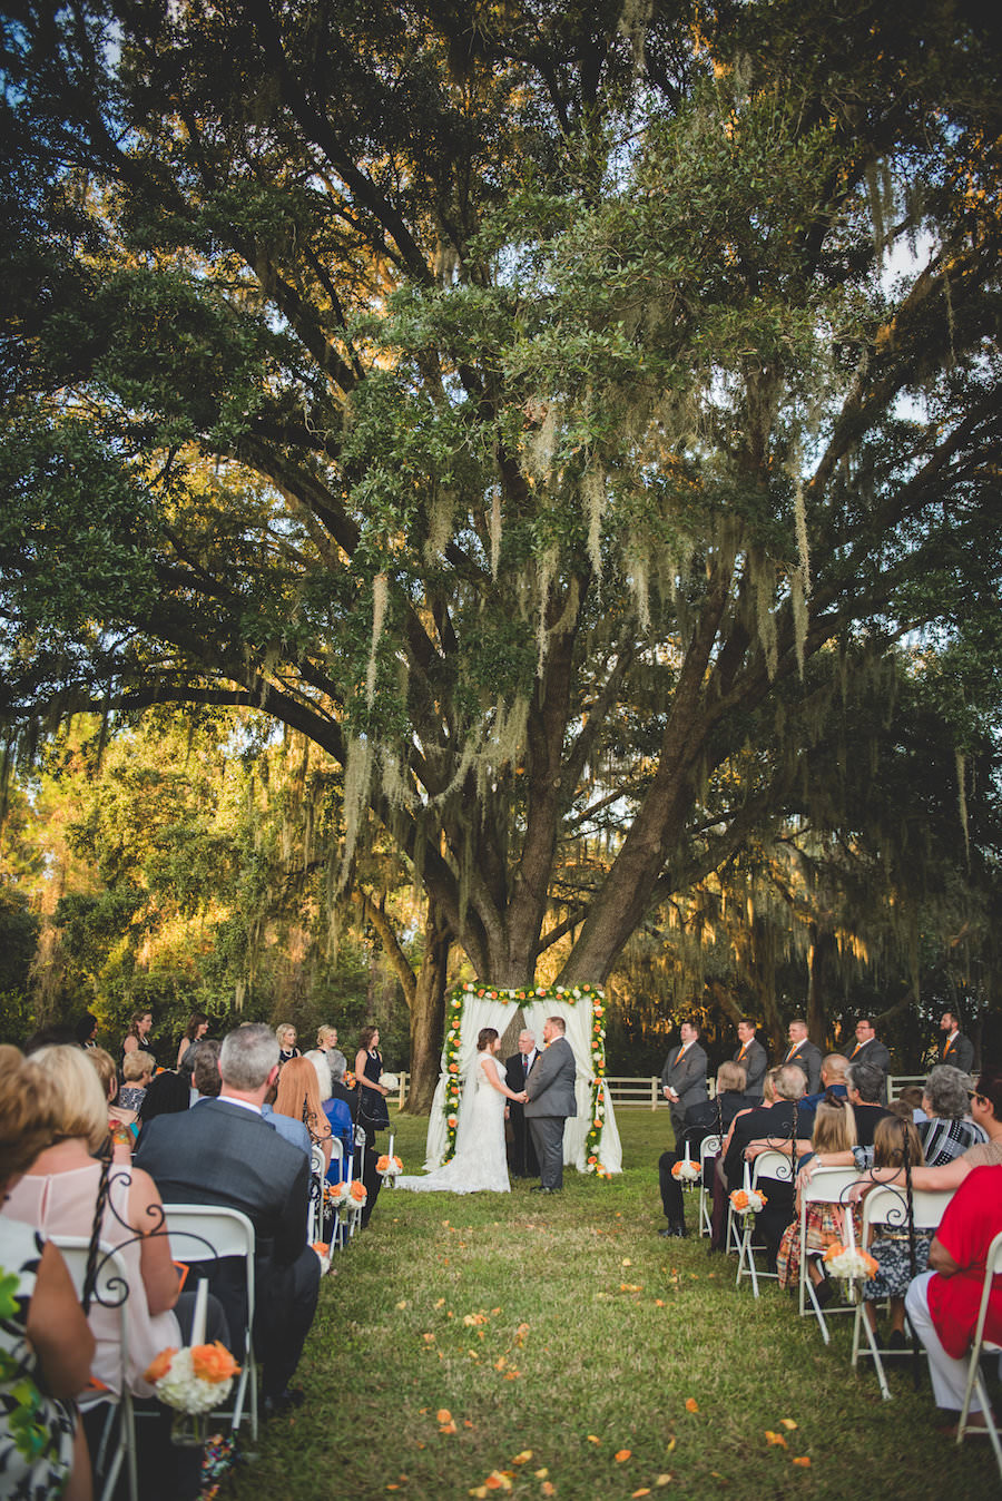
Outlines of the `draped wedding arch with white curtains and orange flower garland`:
M 514 1012 L 522 1013 L 522 1025 L 540 1046 L 546 1018 L 562 1016 L 574 1051 L 578 1115 L 564 1129 L 564 1163 L 598 1177 L 622 1172 L 622 1145 L 606 1087 L 606 1000 L 596 985 L 501 991 L 468 983 L 452 992 L 442 1067 L 428 1123 L 426 1169 L 448 1162 L 462 1142 L 464 1084 L 477 1055 L 480 1028 L 496 1027 L 504 1036 Z

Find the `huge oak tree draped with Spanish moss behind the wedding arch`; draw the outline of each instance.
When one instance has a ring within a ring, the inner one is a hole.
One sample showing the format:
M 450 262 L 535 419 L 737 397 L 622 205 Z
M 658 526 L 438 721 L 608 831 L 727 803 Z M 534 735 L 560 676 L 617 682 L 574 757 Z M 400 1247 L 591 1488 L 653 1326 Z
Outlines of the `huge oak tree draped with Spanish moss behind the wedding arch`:
M 309 737 L 426 1013 L 452 941 L 602 982 L 782 803 L 734 769 L 812 662 L 998 596 L 980 8 L 20 11 L 0 713 Z

